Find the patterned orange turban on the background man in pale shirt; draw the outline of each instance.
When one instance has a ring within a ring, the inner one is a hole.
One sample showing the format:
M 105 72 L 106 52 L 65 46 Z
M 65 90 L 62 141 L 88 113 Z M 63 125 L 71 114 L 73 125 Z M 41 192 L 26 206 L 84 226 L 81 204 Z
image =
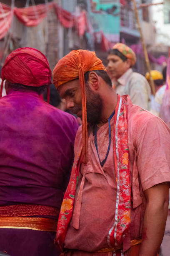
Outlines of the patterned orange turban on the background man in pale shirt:
M 136 55 L 129 46 L 122 43 L 117 43 L 113 46 L 112 49 L 120 51 L 127 59 L 130 59 L 132 66 L 135 64 Z

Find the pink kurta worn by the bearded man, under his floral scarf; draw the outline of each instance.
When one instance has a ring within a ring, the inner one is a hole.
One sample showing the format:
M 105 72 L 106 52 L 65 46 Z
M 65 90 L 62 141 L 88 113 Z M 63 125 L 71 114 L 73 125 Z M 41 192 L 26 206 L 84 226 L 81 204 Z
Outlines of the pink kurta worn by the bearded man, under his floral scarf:
M 145 196 L 143 191 L 161 182 L 170 182 L 170 130 L 158 117 L 128 101 L 128 144 L 132 183 L 130 233 L 123 242 L 123 251 L 130 240 L 142 236 Z M 113 122 L 111 146 L 104 166 L 100 166 L 93 133 L 88 139 L 88 161 L 82 164 L 77 185 L 74 211 L 65 238 L 65 248 L 76 249 L 71 255 L 100 256 L 112 253 L 92 253 L 108 248 L 107 235 L 114 225 L 117 184 L 113 159 Z M 75 154 L 80 151 L 81 128 L 77 132 Z M 109 144 L 108 123 L 97 131 L 100 160 L 105 158 Z M 77 251 L 79 250 L 79 251 Z M 82 253 L 81 253 L 82 251 Z M 86 253 L 85 253 L 86 251 Z

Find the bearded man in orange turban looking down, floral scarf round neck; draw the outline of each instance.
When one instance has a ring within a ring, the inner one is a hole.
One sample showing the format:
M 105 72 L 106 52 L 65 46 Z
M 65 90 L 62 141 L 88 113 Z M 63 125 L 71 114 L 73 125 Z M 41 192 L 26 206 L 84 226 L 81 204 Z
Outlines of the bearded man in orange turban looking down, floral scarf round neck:
M 94 52 L 63 57 L 53 83 L 82 116 L 56 243 L 67 256 L 156 256 L 168 214 L 168 127 L 116 94 Z

